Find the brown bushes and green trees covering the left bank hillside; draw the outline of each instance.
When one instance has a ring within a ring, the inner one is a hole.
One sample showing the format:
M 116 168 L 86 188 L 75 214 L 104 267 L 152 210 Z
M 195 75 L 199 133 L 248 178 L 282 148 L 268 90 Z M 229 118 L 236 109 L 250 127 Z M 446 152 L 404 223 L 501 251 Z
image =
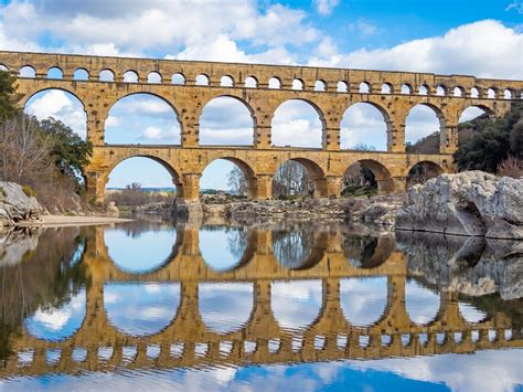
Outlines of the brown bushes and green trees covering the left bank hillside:
M 93 147 L 54 118 L 24 114 L 14 82 L 0 72 L 0 179 L 20 183 L 50 210 L 77 210 L 86 203 L 83 167 Z

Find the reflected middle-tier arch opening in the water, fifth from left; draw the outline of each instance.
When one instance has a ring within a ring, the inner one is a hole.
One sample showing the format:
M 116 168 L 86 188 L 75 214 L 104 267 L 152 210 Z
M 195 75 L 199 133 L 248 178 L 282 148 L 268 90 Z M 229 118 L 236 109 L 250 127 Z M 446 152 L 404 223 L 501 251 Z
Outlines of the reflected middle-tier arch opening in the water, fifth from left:
M 340 305 L 351 325 L 369 327 L 376 324 L 387 306 L 387 277 L 341 279 Z

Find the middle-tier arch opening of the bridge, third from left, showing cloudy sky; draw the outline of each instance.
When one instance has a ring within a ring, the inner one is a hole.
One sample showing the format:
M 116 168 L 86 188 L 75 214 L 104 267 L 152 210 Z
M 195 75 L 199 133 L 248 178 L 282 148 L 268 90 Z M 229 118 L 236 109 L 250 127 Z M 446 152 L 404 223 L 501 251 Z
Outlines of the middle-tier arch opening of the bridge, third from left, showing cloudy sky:
M 242 99 L 220 96 L 211 99 L 200 116 L 200 145 L 253 146 L 256 119 Z

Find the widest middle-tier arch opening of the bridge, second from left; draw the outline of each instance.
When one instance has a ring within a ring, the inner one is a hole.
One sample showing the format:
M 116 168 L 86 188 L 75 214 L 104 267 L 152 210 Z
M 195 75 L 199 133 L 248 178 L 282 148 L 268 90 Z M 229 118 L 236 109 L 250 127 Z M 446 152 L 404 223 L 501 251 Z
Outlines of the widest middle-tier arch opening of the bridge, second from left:
M 109 145 L 180 145 L 179 116 L 175 108 L 159 96 L 127 95 L 110 108 L 104 139 Z

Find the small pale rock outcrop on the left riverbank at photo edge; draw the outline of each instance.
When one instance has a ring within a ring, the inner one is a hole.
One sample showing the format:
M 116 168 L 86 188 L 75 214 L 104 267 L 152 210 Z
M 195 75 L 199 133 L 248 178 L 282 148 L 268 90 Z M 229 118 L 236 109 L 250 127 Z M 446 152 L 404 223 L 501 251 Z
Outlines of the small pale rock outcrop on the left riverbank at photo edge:
M 0 230 L 40 219 L 40 205 L 14 182 L 0 181 Z

